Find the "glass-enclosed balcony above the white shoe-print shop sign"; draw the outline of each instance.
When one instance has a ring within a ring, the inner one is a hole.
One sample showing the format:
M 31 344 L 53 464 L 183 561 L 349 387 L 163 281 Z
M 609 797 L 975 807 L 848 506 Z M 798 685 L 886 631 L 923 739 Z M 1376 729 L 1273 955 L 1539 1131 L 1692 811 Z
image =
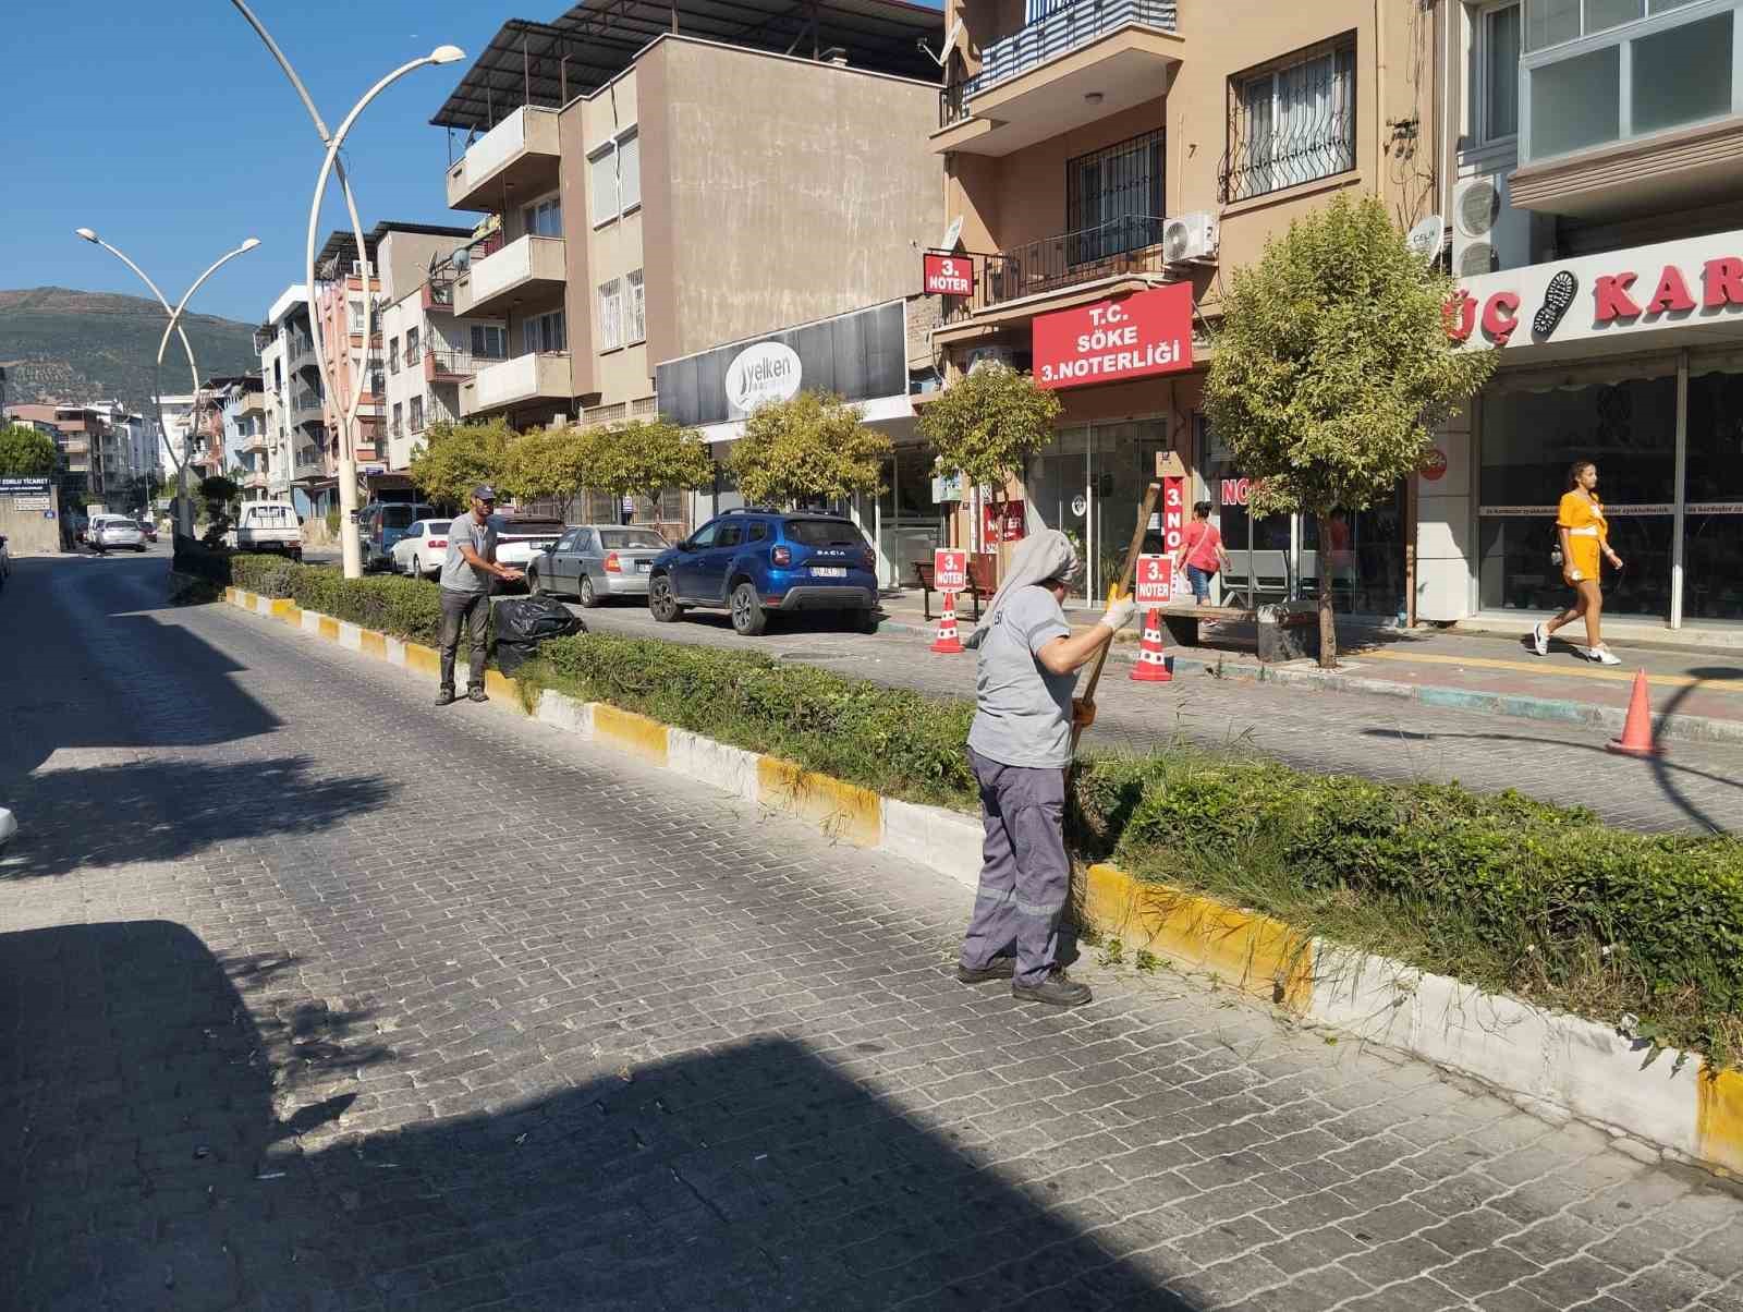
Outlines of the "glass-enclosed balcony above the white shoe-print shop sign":
M 1733 199 L 1743 167 L 1740 10 L 1743 0 L 1611 0 L 1611 26 L 1586 14 L 1583 28 L 1577 7 L 1534 3 L 1513 204 L 1624 218 Z

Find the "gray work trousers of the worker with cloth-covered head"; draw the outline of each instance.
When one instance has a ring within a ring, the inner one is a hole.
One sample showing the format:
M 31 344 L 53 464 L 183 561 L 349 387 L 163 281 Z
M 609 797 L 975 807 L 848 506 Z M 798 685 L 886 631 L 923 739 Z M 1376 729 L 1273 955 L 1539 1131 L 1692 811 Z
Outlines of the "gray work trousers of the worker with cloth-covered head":
M 1002 766 L 973 747 L 980 783 L 981 878 L 962 939 L 962 965 L 980 970 L 1016 951 L 1016 982 L 1039 984 L 1058 963 L 1060 914 L 1072 886 L 1065 857 L 1065 771 Z

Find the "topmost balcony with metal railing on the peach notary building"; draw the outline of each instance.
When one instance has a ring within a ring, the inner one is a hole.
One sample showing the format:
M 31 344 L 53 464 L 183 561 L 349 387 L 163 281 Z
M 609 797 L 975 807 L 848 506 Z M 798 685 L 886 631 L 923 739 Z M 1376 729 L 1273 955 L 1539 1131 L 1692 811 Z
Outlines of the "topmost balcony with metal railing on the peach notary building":
M 1185 44 L 1175 0 L 1075 0 L 981 47 L 939 92 L 933 150 L 1009 155 L 1168 94 Z

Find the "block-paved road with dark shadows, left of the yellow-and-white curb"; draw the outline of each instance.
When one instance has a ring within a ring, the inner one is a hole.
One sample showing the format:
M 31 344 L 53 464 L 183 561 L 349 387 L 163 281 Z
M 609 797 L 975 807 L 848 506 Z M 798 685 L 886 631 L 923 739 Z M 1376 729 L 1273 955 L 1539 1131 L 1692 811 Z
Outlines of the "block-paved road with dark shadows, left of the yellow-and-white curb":
M 9 1307 L 1743 1310 L 1708 1176 L 959 986 L 964 890 L 162 571 L 0 595 Z

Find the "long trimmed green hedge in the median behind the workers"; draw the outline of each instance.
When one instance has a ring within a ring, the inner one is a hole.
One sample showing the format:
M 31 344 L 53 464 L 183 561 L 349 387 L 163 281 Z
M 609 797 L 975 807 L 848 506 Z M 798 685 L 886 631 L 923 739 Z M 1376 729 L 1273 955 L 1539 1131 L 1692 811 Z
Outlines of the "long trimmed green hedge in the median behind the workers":
M 431 642 L 432 583 L 234 557 L 235 584 Z M 751 651 L 580 635 L 535 684 L 608 701 L 863 787 L 974 808 L 973 707 Z M 1658 1019 L 1666 1043 L 1743 1045 L 1743 841 L 1611 829 L 1515 792 L 1394 785 L 1166 750 L 1075 773 L 1074 841 L 1142 878 L 1293 918 L 1360 907 L 1379 951 L 1597 1019 Z M 1593 982 L 1602 987 L 1595 987 Z

